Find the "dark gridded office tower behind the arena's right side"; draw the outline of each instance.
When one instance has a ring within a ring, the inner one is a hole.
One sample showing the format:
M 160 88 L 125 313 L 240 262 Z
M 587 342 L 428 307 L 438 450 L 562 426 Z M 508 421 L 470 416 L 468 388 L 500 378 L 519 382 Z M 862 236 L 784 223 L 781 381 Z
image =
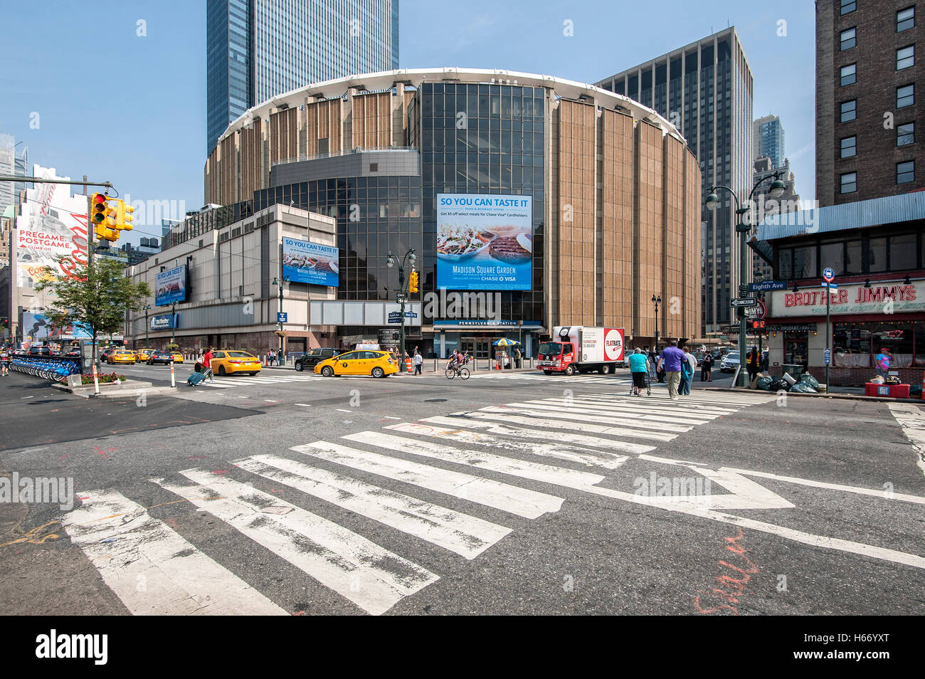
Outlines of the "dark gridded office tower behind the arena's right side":
M 728 186 L 739 200 L 746 199 L 755 160 L 752 71 L 735 27 L 595 84 L 667 117 L 697 156 L 702 182 L 702 328 L 705 333 L 721 332 L 733 317 L 729 300 L 738 296 L 740 282 L 735 204 L 726 191 L 720 192 L 715 211 L 704 201 L 714 184 Z M 750 261 L 751 254 L 746 256 Z M 746 267 L 748 276 L 750 268 Z

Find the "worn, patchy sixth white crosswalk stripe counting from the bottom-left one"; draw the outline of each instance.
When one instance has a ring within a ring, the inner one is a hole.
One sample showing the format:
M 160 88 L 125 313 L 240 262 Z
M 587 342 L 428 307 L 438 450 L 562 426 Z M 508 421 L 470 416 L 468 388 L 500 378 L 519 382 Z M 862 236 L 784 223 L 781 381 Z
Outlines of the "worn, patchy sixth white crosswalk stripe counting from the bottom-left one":
M 481 424 L 484 426 L 486 423 L 473 424 Z M 483 434 L 482 432 L 474 432 L 469 431 L 468 429 L 461 429 L 458 426 L 455 429 L 445 429 L 443 427 L 432 426 L 428 424 L 405 422 L 401 423 L 400 425 L 391 425 L 385 428 L 391 429 L 392 431 L 401 431 L 405 434 L 419 434 L 421 436 L 430 438 L 442 438 L 450 441 L 460 441 L 462 443 L 475 443 L 476 445 L 490 446 L 493 449 L 501 451 L 526 452 L 532 455 L 554 457 L 560 460 L 568 460 L 570 462 L 582 464 L 591 464 L 598 467 L 605 467 L 607 469 L 618 469 L 627 460 L 625 455 L 614 455 L 612 453 L 603 451 L 591 451 L 586 448 L 573 447 L 569 445 L 563 445 L 561 443 L 549 444 L 535 443 L 533 441 L 512 440 L 510 438 L 491 436 L 490 434 Z M 516 436 L 516 434 L 514 436 Z M 652 451 L 655 449 L 654 446 L 641 446 L 639 444 L 624 445 L 635 446 L 635 452 Z

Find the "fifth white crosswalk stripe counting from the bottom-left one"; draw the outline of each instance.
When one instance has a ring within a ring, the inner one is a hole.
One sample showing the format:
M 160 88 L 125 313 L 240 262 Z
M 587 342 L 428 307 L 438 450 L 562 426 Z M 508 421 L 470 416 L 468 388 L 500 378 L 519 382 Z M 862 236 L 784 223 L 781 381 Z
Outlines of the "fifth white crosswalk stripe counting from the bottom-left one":
M 486 469 L 500 474 L 520 476 L 521 478 L 529 478 L 534 481 L 568 486 L 570 488 L 594 486 L 604 480 L 604 476 L 598 474 L 589 474 L 588 472 L 579 472 L 543 463 L 531 463 L 482 451 L 462 451 L 453 446 L 445 446 L 429 441 L 424 443 L 377 431 L 361 431 L 356 434 L 348 434 L 343 438 L 357 443 L 386 448 L 390 451 L 407 452 L 444 462 L 465 464 L 477 469 Z M 567 483 L 563 483 L 563 480 L 567 480 Z

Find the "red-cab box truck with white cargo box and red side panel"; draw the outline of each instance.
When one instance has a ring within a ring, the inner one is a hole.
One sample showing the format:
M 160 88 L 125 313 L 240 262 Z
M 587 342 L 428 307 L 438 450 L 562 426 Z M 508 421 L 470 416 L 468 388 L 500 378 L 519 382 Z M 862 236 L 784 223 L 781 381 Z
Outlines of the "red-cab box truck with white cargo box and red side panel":
M 539 345 L 536 367 L 546 375 L 609 375 L 624 360 L 622 327 L 556 326 Z

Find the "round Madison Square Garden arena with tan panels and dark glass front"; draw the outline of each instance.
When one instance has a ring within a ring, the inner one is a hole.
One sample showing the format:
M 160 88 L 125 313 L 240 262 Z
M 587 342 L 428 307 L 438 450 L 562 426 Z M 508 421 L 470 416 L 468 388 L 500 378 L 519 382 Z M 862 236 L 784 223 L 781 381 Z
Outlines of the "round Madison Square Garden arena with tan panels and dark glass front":
M 272 205 L 334 218 L 325 268 L 337 276 L 292 278 L 283 304 L 297 295 L 306 307 L 284 328 L 302 346 L 388 344 L 399 290 L 388 254 L 409 249 L 420 291 L 408 346 L 425 355 L 484 356 L 501 337 L 533 355 L 554 326 L 622 327 L 640 346 L 656 332 L 699 334 L 697 160 L 659 114 L 591 85 L 459 68 L 316 83 L 235 120 L 208 156 L 204 192 L 224 206 L 207 228 Z M 188 222 L 167 235 L 167 257 L 202 232 Z M 282 267 L 268 256 L 273 278 Z M 267 285 L 254 283 L 258 297 Z M 177 336 L 215 329 L 181 324 Z

